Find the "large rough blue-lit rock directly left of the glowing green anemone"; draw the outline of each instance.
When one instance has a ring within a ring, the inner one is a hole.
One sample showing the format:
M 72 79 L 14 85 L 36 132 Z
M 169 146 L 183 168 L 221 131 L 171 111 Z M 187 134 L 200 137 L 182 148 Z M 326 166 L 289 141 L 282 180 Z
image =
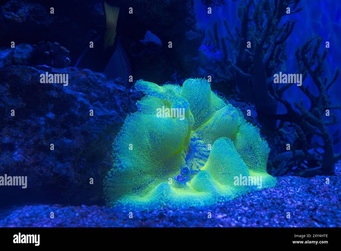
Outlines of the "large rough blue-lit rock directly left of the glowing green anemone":
M 45 72 L 69 74 L 68 86 L 41 84 Z M 141 97 L 116 83 L 72 67 L 0 68 L 0 176 L 28 179 L 26 189 L 1 186 L 0 207 L 103 203 L 102 181 L 112 166 L 114 137 Z

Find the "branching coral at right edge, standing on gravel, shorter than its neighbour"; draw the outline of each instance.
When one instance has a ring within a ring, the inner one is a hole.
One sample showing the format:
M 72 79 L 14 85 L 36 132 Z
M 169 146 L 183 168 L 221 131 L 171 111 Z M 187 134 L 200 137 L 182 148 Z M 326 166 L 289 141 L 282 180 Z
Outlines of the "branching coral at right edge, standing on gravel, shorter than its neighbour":
M 302 92 L 310 100 L 309 109 L 303 105 L 301 100 L 299 103 L 294 102 L 297 112 L 283 98 L 283 92 L 291 84 L 282 86 L 276 84 L 270 88 L 270 94 L 281 102 L 287 110 L 286 114 L 273 115 L 272 117 L 281 121 L 280 130 L 283 136 L 288 134 L 295 136 L 290 141 L 293 146 L 291 151 L 279 154 L 270 165 L 279 166 L 278 170 L 281 171 L 296 166 L 298 167 L 298 174 L 301 176 L 332 174 L 335 170 L 335 163 L 341 159 L 340 153 L 335 154 L 333 151 L 333 143 L 337 143 L 337 141 L 333 142 L 328 131 L 328 126 L 336 124 L 337 118 L 333 114 L 326 116 L 327 110 L 341 109 L 340 105 L 334 105 L 330 102 L 328 95 L 329 88 L 335 83 L 339 75 L 339 69 L 329 81 L 327 76 L 322 80 L 323 62 L 327 56 L 327 49 L 323 51 L 322 55 L 318 54 L 322 40 L 319 36 L 309 39 L 301 48 L 296 50 L 295 54 L 299 72 L 303 73 L 303 81 L 309 74 L 318 90 L 318 95 L 315 96 L 309 86 L 301 86 Z M 317 137 L 318 140 L 314 137 Z M 284 139 L 283 137 L 283 140 L 288 141 L 288 138 Z

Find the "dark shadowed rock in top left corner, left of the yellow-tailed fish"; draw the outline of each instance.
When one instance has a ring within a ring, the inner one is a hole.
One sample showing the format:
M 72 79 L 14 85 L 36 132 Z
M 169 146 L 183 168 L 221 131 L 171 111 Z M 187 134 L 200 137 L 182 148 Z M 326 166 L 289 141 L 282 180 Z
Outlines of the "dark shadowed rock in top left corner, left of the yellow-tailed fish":
M 54 14 L 50 13 L 54 8 Z M 0 3 L 0 47 L 58 41 L 71 53 L 73 66 L 104 28 L 102 0 L 8 0 Z

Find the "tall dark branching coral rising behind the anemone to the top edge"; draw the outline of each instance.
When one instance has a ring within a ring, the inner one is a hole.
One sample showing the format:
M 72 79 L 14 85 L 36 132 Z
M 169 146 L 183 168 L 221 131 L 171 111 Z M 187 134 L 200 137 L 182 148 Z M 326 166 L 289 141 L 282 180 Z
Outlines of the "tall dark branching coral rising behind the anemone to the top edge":
M 268 120 L 268 114 L 277 112 L 278 103 L 269 95 L 268 90 L 273 82 L 273 73 L 285 67 L 285 41 L 295 25 L 295 20 L 289 19 L 282 26 L 280 21 L 286 15 L 287 7 L 291 9 L 291 14 L 301 10 L 297 6 L 299 1 L 279 0 L 272 3 L 262 0 L 255 3 L 247 0 L 238 10 L 241 27 L 235 28 L 236 34 L 224 22 L 229 34 L 225 39 L 234 48 L 227 69 L 223 68 L 224 73 L 230 78 L 232 76 L 241 95 L 256 105 L 264 120 Z M 250 48 L 247 47 L 248 41 L 251 43 Z M 224 48 L 224 40 L 222 45 Z M 274 125 L 275 121 L 272 127 Z

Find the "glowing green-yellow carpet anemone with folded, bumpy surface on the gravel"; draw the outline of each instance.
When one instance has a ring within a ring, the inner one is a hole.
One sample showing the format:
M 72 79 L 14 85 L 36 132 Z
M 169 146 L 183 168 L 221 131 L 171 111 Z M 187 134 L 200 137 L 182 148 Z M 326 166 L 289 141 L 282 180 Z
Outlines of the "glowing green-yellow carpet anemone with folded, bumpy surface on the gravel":
M 276 178 L 266 172 L 269 148 L 259 129 L 214 94 L 207 80 L 188 79 L 182 87 L 139 80 L 135 88 L 146 96 L 113 144 L 114 166 L 104 180 L 110 206 L 209 206 L 275 186 Z M 161 107 L 183 110 L 183 119 L 157 116 Z M 198 172 L 191 179 L 176 182 L 180 172 L 186 175 L 194 167 Z M 262 184 L 238 186 L 236 177 L 249 176 Z

